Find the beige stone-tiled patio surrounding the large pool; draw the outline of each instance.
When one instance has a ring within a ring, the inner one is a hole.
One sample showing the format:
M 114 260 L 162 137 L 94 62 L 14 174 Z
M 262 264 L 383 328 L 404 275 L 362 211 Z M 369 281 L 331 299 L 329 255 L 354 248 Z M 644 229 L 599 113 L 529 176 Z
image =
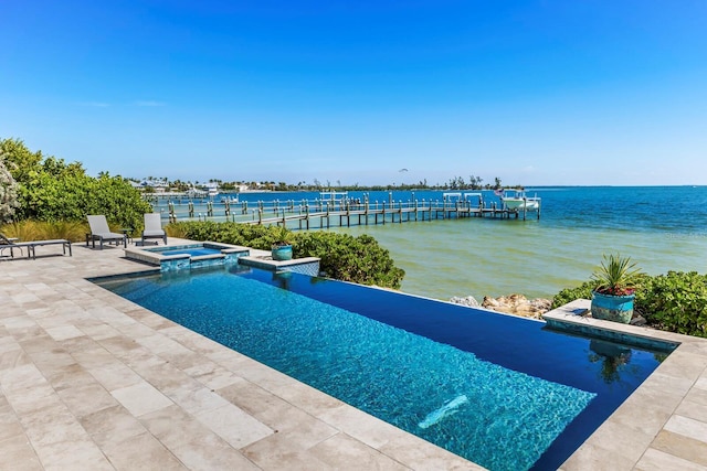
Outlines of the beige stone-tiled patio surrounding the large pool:
M 54 248 L 0 259 L 0 469 L 482 469 L 86 281 L 150 268 L 122 248 Z M 564 470 L 707 470 L 707 341 L 647 334 L 682 344 Z

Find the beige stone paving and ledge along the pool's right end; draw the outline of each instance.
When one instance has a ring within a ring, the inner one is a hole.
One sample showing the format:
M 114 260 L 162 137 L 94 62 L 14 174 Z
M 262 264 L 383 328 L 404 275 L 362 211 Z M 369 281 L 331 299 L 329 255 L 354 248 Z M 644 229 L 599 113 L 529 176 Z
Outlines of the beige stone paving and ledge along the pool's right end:
M 590 303 L 579 299 L 544 318 L 677 347 L 560 469 L 707 469 L 707 339 L 592 319 Z

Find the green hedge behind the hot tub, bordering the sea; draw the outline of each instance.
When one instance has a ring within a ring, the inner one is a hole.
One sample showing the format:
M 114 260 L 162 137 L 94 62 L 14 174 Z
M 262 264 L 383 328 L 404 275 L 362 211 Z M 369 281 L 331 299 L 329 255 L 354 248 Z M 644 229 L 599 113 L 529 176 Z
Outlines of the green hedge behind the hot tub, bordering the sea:
M 239 223 L 178 222 L 170 235 L 193 240 L 213 240 L 270 250 L 282 238 L 277 227 Z M 390 253 L 373 237 L 327 232 L 294 232 L 289 236 L 295 257 L 319 257 L 328 277 L 361 285 L 399 289 L 405 276 Z

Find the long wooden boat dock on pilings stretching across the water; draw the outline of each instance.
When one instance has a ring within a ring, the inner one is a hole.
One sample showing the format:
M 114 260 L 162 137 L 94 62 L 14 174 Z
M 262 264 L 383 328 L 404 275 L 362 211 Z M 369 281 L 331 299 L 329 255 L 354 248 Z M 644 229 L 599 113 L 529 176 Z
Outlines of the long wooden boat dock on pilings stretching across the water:
M 463 217 L 540 218 L 540 206 L 532 211 L 511 210 L 497 202 L 484 202 L 481 193 L 444 193 L 442 200 L 370 202 L 349 199 L 346 193 L 323 193 L 315 201 L 270 202 L 207 201 L 205 204 L 169 202 L 161 208 L 162 218 L 177 221 L 214 221 L 243 224 L 285 225 L 299 229 L 333 226 L 395 224 Z

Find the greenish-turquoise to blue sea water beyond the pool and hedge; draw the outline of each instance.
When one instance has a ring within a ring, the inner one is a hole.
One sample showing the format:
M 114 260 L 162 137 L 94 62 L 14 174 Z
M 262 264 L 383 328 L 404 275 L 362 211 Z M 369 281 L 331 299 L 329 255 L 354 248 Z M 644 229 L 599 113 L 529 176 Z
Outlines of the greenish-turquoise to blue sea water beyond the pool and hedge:
M 498 201 L 484 191 L 486 202 Z M 350 192 L 388 202 L 443 192 Z M 707 186 L 528 189 L 541 217 L 461 218 L 330 228 L 370 234 L 405 270 L 402 290 L 436 299 L 524 293 L 551 297 L 585 281 L 603 254 L 631 256 L 652 275 L 707 271 Z M 317 193 L 244 193 L 241 201 L 315 200 Z

